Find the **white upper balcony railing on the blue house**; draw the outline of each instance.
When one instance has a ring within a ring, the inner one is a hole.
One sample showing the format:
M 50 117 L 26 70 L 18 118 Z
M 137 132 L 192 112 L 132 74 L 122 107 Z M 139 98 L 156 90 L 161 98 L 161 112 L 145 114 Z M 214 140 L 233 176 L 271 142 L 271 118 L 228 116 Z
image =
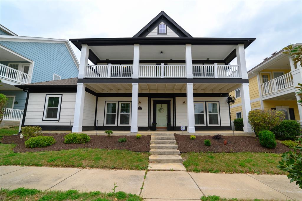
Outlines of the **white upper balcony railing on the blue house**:
M 0 77 L 7 80 L 15 81 L 20 84 L 27 84 L 29 76 L 27 73 L 18 71 L 6 65 L 0 64 Z

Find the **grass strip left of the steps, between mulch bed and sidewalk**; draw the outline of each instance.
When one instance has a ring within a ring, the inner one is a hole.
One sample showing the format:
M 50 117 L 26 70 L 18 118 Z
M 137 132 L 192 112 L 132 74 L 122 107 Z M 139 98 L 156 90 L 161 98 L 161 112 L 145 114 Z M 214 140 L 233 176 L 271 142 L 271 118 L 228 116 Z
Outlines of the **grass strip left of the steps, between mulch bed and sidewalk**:
M 14 153 L 13 144 L 0 144 L 0 165 L 34 165 L 81 168 L 145 170 L 148 152 L 106 149 L 70 149 L 48 152 Z

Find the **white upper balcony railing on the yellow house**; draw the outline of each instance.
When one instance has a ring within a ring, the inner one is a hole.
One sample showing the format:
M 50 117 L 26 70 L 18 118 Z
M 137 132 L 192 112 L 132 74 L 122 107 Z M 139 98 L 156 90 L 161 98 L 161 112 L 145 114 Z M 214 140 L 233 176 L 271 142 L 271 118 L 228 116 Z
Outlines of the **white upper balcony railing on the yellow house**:
M 261 84 L 262 95 L 294 86 L 291 72 Z

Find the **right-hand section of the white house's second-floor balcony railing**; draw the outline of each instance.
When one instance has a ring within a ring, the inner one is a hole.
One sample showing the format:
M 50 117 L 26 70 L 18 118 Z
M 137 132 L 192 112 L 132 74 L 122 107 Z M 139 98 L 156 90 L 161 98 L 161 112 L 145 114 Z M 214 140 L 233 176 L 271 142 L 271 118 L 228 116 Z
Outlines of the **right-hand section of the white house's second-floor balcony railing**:
M 193 78 L 240 78 L 239 65 L 192 65 Z

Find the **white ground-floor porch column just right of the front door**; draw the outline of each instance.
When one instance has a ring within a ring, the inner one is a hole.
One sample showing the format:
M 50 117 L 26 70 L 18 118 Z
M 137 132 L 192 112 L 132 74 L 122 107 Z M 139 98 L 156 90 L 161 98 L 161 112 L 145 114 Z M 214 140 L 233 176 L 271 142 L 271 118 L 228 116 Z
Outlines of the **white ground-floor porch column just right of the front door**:
M 187 83 L 187 116 L 187 131 L 195 132 L 193 83 Z

